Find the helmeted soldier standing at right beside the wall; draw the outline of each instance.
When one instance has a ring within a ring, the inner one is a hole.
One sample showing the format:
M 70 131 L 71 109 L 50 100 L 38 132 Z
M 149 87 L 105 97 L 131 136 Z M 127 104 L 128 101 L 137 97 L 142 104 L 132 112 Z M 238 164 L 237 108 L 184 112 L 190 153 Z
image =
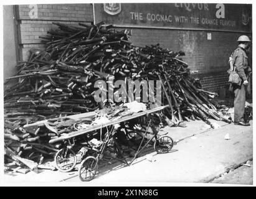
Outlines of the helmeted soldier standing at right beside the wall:
M 252 69 L 248 65 L 247 54 L 250 48 L 250 38 L 247 35 L 241 35 L 237 40 L 239 45 L 232 54 L 234 62 L 234 67 L 236 72 L 241 78 L 240 85 L 232 85 L 235 94 L 234 99 L 234 123 L 235 125 L 250 126 L 248 122 L 244 121 L 244 109 L 245 109 L 245 90 L 249 84 L 249 75 Z

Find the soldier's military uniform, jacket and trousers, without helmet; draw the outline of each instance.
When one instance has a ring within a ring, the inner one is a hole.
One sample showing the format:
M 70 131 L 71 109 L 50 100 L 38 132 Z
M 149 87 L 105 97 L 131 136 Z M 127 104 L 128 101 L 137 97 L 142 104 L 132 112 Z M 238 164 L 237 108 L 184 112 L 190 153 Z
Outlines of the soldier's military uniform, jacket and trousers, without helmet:
M 242 47 L 235 49 L 232 58 L 234 58 L 235 71 L 239 74 L 242 79 L 241 85 L 232 85 L 235 94 L 234 99 L 234 122 L 238 123 L 244 121 L 244 108 L 245 108 L 245 85 L 244 81 L 249 78 L 252 72 L 248 65 L 247 52 Z

